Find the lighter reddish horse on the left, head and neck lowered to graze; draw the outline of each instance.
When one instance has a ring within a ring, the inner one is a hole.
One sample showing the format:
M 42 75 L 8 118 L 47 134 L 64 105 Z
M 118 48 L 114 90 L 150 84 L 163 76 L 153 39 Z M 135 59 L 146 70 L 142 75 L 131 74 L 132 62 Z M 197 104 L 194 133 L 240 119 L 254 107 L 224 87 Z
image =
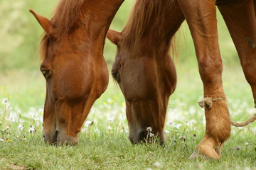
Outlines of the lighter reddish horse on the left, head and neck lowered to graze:
M 46 78 L 43 137 L 50 144 L 77 144 L 92 104 L 107 88 L 103 46 L 123 1 L 60 0 L 50 21 L 31 10 L 45 30 L 40 69 Z

